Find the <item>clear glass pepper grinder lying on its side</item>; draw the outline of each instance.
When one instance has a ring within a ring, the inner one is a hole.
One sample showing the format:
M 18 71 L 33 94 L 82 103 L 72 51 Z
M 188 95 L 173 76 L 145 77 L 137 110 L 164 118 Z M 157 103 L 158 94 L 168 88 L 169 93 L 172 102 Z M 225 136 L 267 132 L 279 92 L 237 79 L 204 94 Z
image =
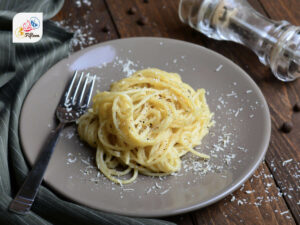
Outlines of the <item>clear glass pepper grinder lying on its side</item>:
M 210 38 L 252 49 L 281 81 L 300 77 L 300 27 L 266 18 L 246 0 L 180 0 L 179 17 Z

